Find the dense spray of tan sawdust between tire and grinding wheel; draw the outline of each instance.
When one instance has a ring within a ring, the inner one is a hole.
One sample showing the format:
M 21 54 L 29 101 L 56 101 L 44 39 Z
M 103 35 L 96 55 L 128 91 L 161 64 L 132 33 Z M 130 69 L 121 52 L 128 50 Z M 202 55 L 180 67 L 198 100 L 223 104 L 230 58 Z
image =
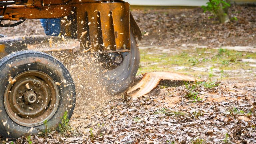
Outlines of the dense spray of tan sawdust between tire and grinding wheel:
M 75 114 L 90 114 L 93 109 L 113 98 L 104 85 L 106 69 L 102 68 L 99 57 L 90 52 L 83 53 L 81 49 L 73 54 L 55 52 L 51 55 L 65 65 L 74 80 L 77 96 Z

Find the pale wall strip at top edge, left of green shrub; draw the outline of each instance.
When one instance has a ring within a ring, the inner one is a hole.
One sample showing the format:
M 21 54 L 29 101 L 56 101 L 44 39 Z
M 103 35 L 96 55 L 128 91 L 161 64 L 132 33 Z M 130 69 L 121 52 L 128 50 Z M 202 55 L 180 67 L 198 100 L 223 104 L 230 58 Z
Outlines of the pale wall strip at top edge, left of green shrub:
M 144 6 L 202 6 L 208 0 L 124 0 L 130 5 Z

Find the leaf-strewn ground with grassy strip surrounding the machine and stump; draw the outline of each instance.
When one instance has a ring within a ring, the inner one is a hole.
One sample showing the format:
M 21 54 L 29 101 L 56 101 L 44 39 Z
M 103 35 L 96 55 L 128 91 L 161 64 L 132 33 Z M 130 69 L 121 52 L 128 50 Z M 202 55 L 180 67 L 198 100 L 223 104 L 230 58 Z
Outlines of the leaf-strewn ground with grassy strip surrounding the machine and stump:
M 256 59 L 256 54 L 222 49 L 256 46 L 256 7 L 232 6 L 230 13 L 238 21 L 223 25 L 208 19 L 211 14 L 200 8 L 132 13 L 145 35 L 139 43 L 141 66 L 134 83 L 141 79 L 140 73 L 151 71 L 175 71 L 206 82 L 162 83 L 134 101 L 122 95 L 109 96 L 104 87 L 92 86 L 100 85 L 100 81 L 95 75 L 97 69 L 86 69 L 93 62 L 84 54 L 57 56 L 71 72 L 77 88 L 71 129 L 64 135 L 51 132 L 48 138 L 31 136 L 30 141 L 256 143 L 256 68 L 254 63 L 242 61 Z M 9 36 L 43 34 L 38 20 L 2 31 Z M 29 141 L 22 137 L 15 143 Z

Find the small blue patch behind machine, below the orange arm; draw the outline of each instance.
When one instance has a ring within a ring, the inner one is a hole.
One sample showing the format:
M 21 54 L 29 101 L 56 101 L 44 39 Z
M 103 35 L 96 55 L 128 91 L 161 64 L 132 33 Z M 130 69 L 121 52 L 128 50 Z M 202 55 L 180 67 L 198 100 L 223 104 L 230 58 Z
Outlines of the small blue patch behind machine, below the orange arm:
M 40 19 L 47 36 L 58 36 L 60 34 L 60 19 Z

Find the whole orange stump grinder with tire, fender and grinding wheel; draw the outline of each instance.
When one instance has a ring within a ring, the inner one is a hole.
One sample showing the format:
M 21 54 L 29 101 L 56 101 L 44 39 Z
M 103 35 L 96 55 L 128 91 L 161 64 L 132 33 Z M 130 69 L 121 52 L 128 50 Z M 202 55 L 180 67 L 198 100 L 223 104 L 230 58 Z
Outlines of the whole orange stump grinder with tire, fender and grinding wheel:
M 17 138 L 55 129 L 71 118 L 76 92 L 65 66 L 44 53 L 85 50 L 104 57 L 112 91 L 122 92 L 139 67 L 139 26 L 122 0 L 0 0 L 0 27 L 61 18 L 62 36 L 7 37 L 0 28 L 0 135 Z M 6 21 L 13 21 L 8 24 Z M 65 38 L 64 38 L 65 36 Z M 65 42 L 63 42 L 65 39 Z M 115 74 L 114 74 L 115 73 Z

